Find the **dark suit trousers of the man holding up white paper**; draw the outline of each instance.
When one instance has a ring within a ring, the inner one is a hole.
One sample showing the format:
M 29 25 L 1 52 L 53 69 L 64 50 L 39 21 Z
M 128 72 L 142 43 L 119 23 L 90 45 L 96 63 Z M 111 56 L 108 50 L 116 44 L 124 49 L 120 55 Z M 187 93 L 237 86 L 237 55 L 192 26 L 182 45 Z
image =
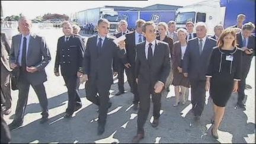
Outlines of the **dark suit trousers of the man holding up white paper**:
M 87 100 L 98 105 L 99 116 L 98 123 L 105 124 L 107 120 L 107 111 L 109 103 L 109 90 L 111 85 L 103 85 L 99 80 L 88 80 L 85 83 L 85 92 Z M 97 95 L 98 94 L 98 95 Z

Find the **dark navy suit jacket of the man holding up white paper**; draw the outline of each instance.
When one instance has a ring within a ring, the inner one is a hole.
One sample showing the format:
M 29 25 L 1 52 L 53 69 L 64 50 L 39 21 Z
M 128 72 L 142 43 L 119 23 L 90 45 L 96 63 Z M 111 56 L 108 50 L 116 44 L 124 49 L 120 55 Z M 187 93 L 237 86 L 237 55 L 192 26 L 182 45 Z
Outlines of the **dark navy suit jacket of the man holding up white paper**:
M 113 84 L 113 59 L 116 55 L 124 57 L 125 49 L 120 50 L 113 42 L 113 36 L 108 35 L 103 42 L 102 52 L 98 55 L 97 39 L 95 34 L 87 40 L 84 54 L 84 73 L 88 75 L 89 81 L 100 82 L 104 88 Z M 117 68 L 114 67 L 117 72 Z

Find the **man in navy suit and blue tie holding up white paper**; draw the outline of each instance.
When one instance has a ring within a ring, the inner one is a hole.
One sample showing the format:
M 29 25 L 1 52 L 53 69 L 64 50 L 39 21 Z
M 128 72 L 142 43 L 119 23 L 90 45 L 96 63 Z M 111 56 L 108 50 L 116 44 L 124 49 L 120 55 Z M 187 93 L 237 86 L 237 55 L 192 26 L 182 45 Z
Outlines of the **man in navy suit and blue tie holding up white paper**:
M 113 59 L 116 55 L 123 57 L 125 53 L 124 41 L 120 41 L 117 47 L 113 41 L 115 38 L 108 34 L 109 27 L 107 19 L 98 20 L 98 34 L 88 38 L 84 55 L 84 75 L 81 78 L 81 83 L 87 81 L 87 100 L 99 106 L 98 135 L 105 131 L 107 111 L 111 106 L 109 90 L 113 84 Z

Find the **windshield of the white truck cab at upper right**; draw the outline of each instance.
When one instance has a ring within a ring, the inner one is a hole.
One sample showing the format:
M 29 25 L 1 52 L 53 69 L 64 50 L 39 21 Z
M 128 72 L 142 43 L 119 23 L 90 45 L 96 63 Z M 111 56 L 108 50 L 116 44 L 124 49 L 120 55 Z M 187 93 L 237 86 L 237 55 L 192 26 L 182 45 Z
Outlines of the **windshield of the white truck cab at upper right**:
M 187 21 L 194 23 L 196 12 L 182 12 L 177 14 L 176 24 L 185 24 Z

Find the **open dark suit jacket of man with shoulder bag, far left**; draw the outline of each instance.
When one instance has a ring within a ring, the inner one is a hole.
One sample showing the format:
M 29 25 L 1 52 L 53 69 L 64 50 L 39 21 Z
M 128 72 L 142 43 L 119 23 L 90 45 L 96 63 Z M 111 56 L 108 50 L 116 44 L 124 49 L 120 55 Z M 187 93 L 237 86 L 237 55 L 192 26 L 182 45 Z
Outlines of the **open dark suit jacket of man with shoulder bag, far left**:
M 16 63 L 18 65 L 18 52 L 21 44 L 21 37 L 21 34 L 12 37 L 9 63 Z M 38 71 L 34 73 L 27 74 L 28 82 L 30 82 L 31 85 L 38 85 L 47 81 L 44 68 L 48 65 L 50 60 L 50 52 L 44 38 L 31 33 L 30 41 L 28 43 L 26 63 L 27 66 L 36 66 L 38 69 Z

